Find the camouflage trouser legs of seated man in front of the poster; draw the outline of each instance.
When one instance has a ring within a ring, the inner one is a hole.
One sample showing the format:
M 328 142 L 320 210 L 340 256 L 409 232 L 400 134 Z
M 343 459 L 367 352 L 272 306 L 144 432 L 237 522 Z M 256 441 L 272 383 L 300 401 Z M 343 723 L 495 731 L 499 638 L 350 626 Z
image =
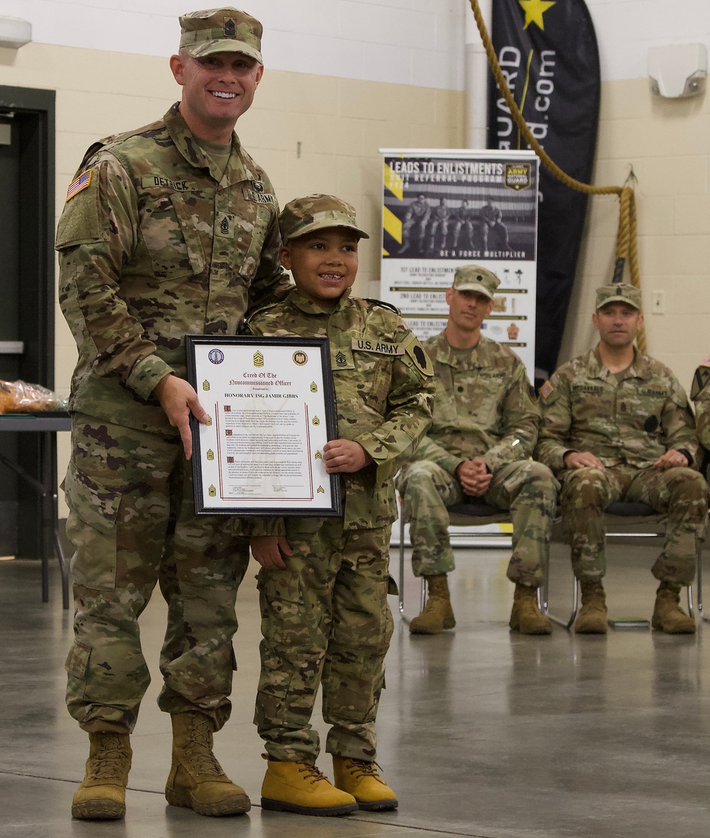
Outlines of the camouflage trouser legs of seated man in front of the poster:
M 453 571 L 447 507 L 464 500 L 459 481 L 436 463 L 419 460 L 402 470 L 396 487 L 409 522 L 414 575 Z M 539 587 L 557 505 L 557 480 L 550 469 L 534 460 L 508 463 L 496 470 L 488 491 L 477 500 L 510 510 L 513 552 L 507 577 Z

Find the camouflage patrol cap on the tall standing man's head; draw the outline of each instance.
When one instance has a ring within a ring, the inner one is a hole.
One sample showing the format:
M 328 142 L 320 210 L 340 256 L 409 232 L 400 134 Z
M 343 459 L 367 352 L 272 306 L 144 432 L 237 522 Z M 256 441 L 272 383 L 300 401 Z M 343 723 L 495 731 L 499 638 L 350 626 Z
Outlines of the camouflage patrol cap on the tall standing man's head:
M 207 8 L 180 15 L 180 49 L 191 58 L 241 52 L 262 61 L 262 24 L 238 8 Z

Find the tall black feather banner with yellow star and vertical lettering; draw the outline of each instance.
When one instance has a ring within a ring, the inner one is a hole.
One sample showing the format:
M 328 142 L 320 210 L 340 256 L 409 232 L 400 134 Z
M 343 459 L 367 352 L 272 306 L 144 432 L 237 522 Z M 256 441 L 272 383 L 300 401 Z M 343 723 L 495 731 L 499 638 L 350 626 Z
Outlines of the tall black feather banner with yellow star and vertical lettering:
M 599 124 L 599 49 L 583 0 L 495 0 L 495 54 L 523 116 L 567 174 L 589 183 Z M 490 74 L 489 148 L 527 148 Z M 536 379 L 557 366 L 587 196 L 540 170 Z M 539 371 L 539 372 L 538 372 Z

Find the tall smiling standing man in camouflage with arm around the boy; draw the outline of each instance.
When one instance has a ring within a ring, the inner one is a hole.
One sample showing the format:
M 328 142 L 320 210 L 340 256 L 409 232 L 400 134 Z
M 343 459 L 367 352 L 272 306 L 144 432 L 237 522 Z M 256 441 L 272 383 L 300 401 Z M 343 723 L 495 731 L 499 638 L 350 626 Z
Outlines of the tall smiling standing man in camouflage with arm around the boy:
M 137 618 L 158 580 L 168 803 L 200 815 L 250 806 L 211 750 L 231 710 L 248 550 L 234 521 L 194 515 L 189 416 L 208 417 L 186 380 L 184 335 L 235 334 L 250 304 L 289 283 L 272 184 L 234 133 L 262 78 L 262 24 L 234 8 L 180 24 L 170 69 L 182 101 L 91 146 L 57 230 L 60 303 L 79 345 L 64 484 L 75 546 L 67 703 L 90 755 L 75 818 L 124 815 L 129 734 L 150 681 Z

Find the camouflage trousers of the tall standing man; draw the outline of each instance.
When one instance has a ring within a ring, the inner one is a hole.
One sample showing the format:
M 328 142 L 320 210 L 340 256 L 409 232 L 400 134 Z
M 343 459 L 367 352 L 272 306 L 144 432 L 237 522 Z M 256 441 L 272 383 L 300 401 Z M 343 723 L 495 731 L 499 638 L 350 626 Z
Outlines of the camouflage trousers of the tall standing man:
M 67 706 L 88 732 L 132 732 L 150 675 L 138 617 L 159 582 L 168 713 L 229 718 L 236 590 L 249 561 L 238 524 L 194 515 L 179 439 L 75 416 L 64 483 L 75 599 Z

